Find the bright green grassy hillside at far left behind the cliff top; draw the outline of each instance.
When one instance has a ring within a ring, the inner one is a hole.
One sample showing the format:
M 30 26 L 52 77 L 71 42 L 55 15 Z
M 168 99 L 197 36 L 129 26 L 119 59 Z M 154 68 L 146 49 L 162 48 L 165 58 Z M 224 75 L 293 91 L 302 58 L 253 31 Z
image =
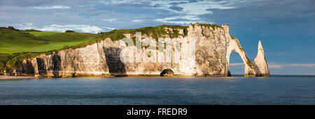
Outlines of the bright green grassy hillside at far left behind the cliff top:
M 0 29 L 0 53 L 45 52 L 64 46 L 78 45 L 95 38 L 97 34 L 56 33 L 44 31 L 15 31 Z

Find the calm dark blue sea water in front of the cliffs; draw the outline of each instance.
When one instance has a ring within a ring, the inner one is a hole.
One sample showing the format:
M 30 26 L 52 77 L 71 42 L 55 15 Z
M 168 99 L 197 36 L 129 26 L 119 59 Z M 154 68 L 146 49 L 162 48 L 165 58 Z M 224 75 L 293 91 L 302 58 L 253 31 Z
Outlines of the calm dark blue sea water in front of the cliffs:
M 315 76 L 5 79 L 0 104 L 315 104 Z

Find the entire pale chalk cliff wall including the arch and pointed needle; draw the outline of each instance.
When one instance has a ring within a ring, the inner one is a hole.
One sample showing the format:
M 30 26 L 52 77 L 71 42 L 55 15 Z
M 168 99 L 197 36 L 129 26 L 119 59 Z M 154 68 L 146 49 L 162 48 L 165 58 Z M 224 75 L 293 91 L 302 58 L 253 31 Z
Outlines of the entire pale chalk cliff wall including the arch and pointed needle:
M 165 30 L 174 34 L 174 29 Z M 139 48 L 123 40 L 113 41 L 111 38 L 105 38 L 84 48 L 38 55 L 25 59 L 22 68 L 15 69 L 12 73 L 47 77 L 160 76 L 164 69 L 172 69 L 174 75 L 180 76 L 228 76 L 230 54 L 238 52 L 244 62 L 245 76 L 269 75 L 261 43 L 258 45 L 255 62 L 252 63 L 237 38 L 230 36 L 228 25 L 216 27 L 190 24 L 188 34 L 185 34 L 184 29 L 176 30 L 180 34 L 177 38 L 170 38 L 165 34 L 163 40 L 159 40 L 159 43 L 152 41 L 147 45 L 148 48 Z M 137 36 L 124 35 L 126 38 Z M 143 34 L 139 37 L 141 43 L 152 36 Z M 158 44 L 166 44 L 167 41 L 172 41 L 172 44 L 162 49 L 151 48 L 153 45 L 158 47 Z

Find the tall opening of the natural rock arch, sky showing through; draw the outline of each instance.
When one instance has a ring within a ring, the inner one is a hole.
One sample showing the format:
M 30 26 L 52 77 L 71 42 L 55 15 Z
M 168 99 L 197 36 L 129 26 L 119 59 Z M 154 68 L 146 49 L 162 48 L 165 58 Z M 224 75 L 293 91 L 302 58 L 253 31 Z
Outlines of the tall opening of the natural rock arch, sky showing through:
M 239 53 L 231 53 L 229 70 L 232 76 L 244 76 L 244 62 L 241 59 L 241 56 L 239 56 Z

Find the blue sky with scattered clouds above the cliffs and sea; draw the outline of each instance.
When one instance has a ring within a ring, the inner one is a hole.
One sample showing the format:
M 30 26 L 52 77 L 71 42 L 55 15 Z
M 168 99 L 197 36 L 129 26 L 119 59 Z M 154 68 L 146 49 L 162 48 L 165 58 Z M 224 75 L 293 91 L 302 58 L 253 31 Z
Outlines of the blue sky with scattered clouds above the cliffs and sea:
M 0 27 L 99 33 L 226 24 L 252 61 L 262 42 L 271 74 L 315 75 L 314 6 L 314 0 L 0 0 Z M 244 73 L 237 53 L 230 71 Z

